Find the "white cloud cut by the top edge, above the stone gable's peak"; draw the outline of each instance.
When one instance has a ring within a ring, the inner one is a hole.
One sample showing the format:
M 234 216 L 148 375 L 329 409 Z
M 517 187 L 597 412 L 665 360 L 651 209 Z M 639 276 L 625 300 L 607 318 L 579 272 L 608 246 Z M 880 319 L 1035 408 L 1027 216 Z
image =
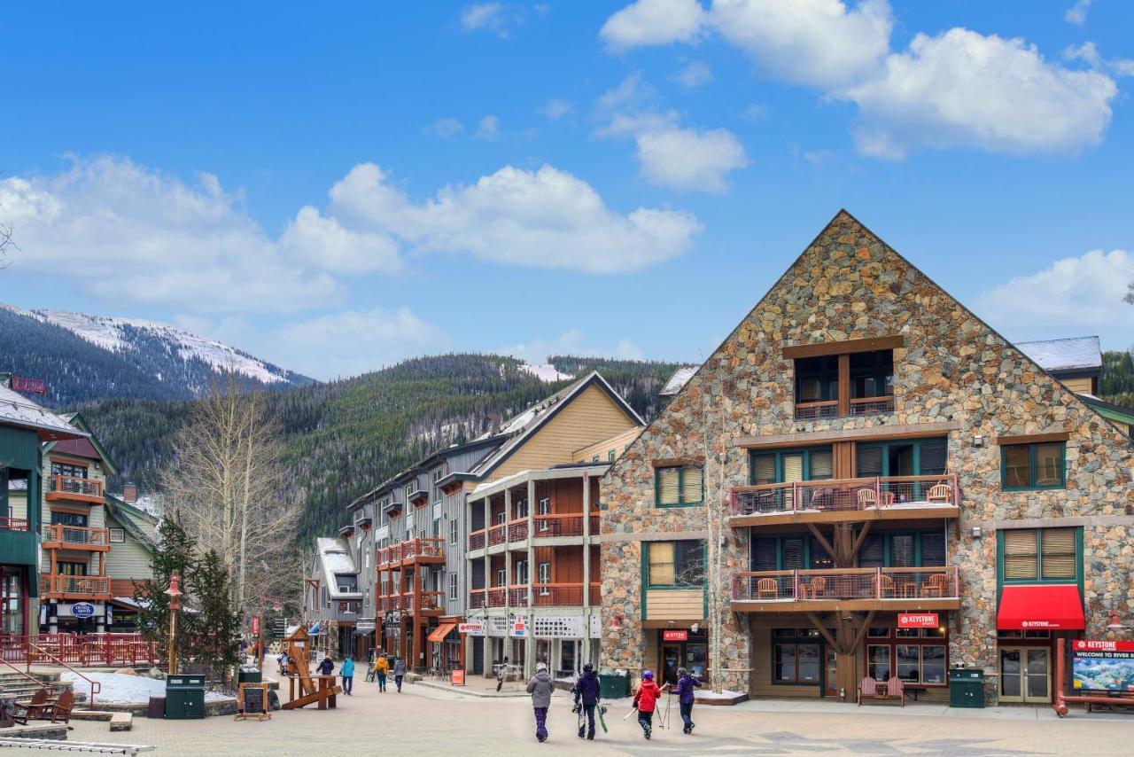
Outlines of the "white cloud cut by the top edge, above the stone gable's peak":
M 713 28 L 772 76 L 831 87 L 872 72 L 894 20 L 886 0 L 716 0 Z

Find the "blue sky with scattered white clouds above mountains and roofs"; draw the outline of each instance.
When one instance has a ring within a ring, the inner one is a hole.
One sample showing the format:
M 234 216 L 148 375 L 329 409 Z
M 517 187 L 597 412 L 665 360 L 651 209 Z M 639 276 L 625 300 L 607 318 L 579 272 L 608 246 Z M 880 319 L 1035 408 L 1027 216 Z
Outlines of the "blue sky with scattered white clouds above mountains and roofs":
M 1009 338 L 1134 343 L 1119 0 L 0 23 L 18 306 L 175 322 L 320 378 L 443 350 L 700 362 L 845 207 Z

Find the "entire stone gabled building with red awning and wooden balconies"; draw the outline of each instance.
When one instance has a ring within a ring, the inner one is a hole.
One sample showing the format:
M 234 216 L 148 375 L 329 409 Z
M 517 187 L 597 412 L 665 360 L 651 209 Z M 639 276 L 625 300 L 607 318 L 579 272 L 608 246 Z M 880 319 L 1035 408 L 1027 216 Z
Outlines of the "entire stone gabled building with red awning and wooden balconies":
M 603 477 L 603 666 L 1050 701 L 1131 622 L 1127 430 L 839 212 Z

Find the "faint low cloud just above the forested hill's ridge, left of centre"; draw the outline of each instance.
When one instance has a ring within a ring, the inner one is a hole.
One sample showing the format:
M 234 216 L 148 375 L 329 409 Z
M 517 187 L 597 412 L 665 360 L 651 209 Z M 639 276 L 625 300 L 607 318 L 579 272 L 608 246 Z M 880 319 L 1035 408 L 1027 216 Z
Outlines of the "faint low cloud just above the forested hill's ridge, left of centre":
M 408 309 L 347 310 L 289 323 L 261 348 L 272 362 L 321 379 L 357 376 L 451 347 L 451 339 Z

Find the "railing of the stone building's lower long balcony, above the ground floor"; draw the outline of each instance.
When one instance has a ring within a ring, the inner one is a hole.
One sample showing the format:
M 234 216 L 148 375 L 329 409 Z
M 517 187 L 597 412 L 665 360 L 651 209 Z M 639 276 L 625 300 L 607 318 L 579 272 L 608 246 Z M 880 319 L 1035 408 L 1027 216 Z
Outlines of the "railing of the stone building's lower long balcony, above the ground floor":
M 823 602 L 833 599 L 957 599 L 957 569 L 852 567 L 758 571 L 733 579 L 734 602 Z

